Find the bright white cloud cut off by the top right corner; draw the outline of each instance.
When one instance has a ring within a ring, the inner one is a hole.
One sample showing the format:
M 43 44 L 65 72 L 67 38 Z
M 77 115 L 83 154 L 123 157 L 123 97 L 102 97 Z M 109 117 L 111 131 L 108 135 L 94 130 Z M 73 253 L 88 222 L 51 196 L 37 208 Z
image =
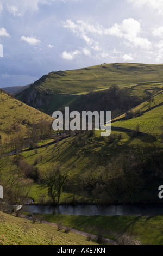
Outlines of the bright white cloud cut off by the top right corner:
M 159 14 L 163 14 L 162 0 L 127 0 L 129 3 L 133 3 L 135 7 L 148 7 L 152 10 L 158 11 Z

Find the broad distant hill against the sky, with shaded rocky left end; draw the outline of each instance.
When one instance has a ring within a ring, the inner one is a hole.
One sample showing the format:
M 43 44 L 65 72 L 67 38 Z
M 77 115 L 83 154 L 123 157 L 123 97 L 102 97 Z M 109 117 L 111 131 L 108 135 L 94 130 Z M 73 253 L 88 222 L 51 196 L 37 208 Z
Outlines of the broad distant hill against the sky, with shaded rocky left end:
M 50 115 L 64 106 L 81 111 L 88 101 L 87 95 L 91 95 L 92 102 L 95 102 L 93 92 L 117 84 L 120 89 L 128 90 L 131 96 L 145 101 L 155 90 L 162 88 L 162 68 L 162 64 L 114 63 L 51 72 L 17 94 L 17 99 Z M 141 102 L 136 103 L 135 106 Z

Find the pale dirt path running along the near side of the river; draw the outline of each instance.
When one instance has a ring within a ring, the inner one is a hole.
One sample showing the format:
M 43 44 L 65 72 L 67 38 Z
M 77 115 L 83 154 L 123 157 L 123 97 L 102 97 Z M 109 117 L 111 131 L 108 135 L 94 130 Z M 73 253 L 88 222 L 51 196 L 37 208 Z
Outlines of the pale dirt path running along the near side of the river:
M 26 218 L 27 220 L 32 220 L 32 217 L 29 217 L 29 216 L 26 216 L 26 215 L 20 215 L 21 218 Z M 57 228 L 57 223 L 52 223 L 52 222 L 48 222 L 48 221 L 42 221 L 42 223 L 45 223 L 45 224 L 48 224 L 48 225 L 51 225 L 52 227 L 55 227 Z M 63 228 L 65 228 L 63 226 Z M 73 229 L 71 228 L 71 231 L 73 233 L 76 233 L 76 234 L 79 234 L 79 235 L 83 235 L 83 236 L 88 236 L 90 235 L 89 233 L 86 233 L 86 232 L 83 232 L 83 231 L 79 231 L 77 229 Z M 97 239 L 97 236 L 96 235 L 91 235 L 91 237 L 93 239 Z M 105 238 L 105 241 L 108 243 L 108 245 L 118 245 L 118 243 L 116 243 L 114 240 L 111 240 L 109 238 Z

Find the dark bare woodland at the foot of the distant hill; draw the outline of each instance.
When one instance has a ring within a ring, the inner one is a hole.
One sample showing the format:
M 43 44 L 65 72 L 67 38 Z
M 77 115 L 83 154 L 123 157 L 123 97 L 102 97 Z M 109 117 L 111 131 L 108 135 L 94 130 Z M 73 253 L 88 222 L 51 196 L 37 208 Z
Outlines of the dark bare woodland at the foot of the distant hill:
M 142 102 L 141 97 L 131 95 L 130 92 L 128 88 L 112 84 L 107 90 L 90 92 L 83 97 L 80 105 L 70 105 L 70 111 L 111 111 L 111 118 L 114 118 Z

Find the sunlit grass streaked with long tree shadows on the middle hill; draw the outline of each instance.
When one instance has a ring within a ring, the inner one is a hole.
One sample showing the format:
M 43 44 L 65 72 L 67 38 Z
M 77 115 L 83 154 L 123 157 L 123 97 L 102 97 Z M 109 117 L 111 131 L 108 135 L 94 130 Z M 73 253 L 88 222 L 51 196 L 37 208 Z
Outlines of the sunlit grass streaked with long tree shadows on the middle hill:
M 75 174 L 84 174 L 88 177 L 91 172 L 89 161 L 92 159 L 92 156 L 98 161 L 97 166 L 103 166 L 111 157 L 117 156 L 122 152 L 126 154 L 130 150 L 135 150 L 137 145 L 145 151 L 149 151 L 153 148 L 153 140 L 148 136 L 131 137 L 128 132 L 112 131 L 112 133 L 116 135 L 121 133 L 122 139 L 119 140 L 117 138 L 114 142 L 108 143 L 107 138 L 101 137 L 99 132 L 100 131 L 96 131 L 93 137 L 84 135 L 82 139 L 78 140 L 77 144 L 72 143 L 74 138 L 68 138 L 58 145 L 54 144 L 49 146 L 47 149 L 37 149 L 37 154 L 35 154 L 35 150 L 30 150 L 22 153 L 22 155 L 29 164 L 33 164 L 36 157 L 42 155 L 42 160 L 37 164 L 42 175 L 52 167 L 52 164 L 61 164 L 62 168 L 69 171 L 72 176 Z M 83 140 L 87 141 L 86 145 L 84 145 Z M 156 147 L 161 147 L 160 142 L 156 143 Z M 93 161 L 95 161 L 95 159 Z M 98 173 L 98 168 L 96 172 Z M 39 202 L 40 197 L 43 197 L 45 202 L 49 200 L 47 187 L 40 184 L 33 185 L 29 196 L 34 198 L 35 203 Z M 70 203 L 72 202 L 72 198 L 72 194 L 63 193 L 61 203 Z M 80 196 L 77 196 L 77 198 L 79 202 L 82 200 Z M 92 199 L 87 200 L 91 202 Z

